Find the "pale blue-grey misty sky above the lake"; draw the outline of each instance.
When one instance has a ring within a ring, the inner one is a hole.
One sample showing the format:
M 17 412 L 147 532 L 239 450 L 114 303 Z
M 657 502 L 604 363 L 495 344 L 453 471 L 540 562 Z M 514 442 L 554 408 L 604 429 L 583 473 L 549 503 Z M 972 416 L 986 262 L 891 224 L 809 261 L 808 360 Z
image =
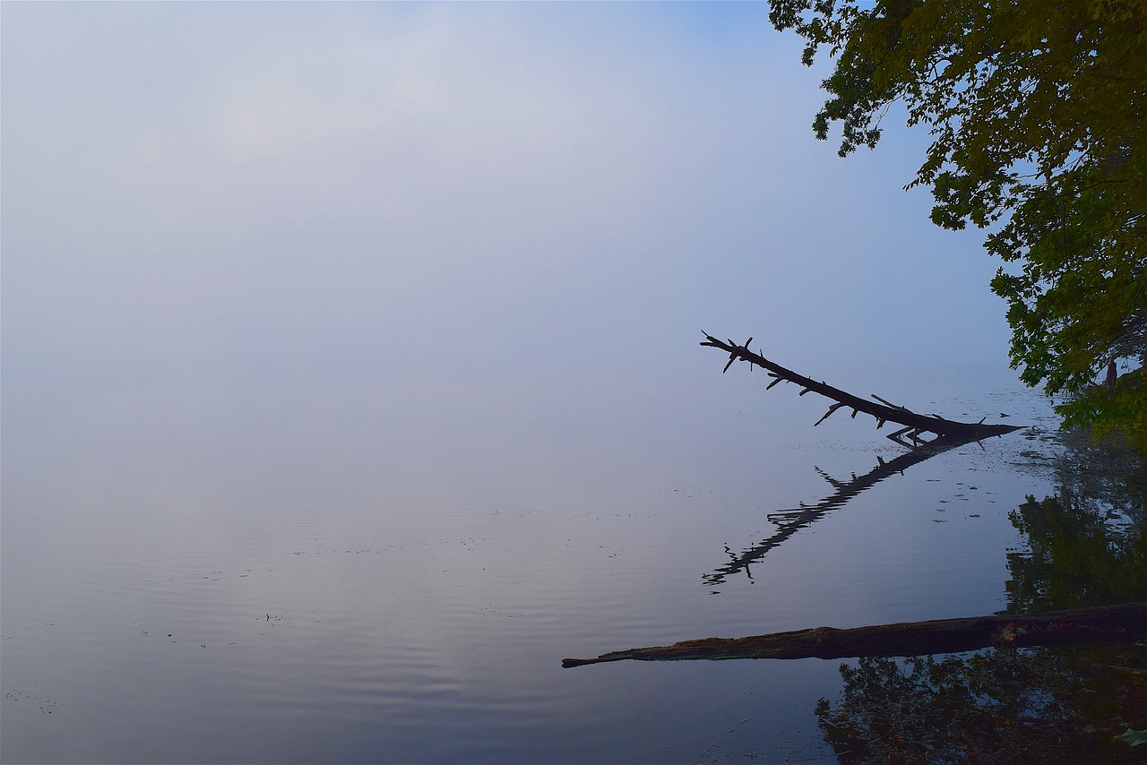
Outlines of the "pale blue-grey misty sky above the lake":
M 1006 366 L 927 136 L 837 158 L 799 49 L 752 3 L 5 2 L 5 384 Z

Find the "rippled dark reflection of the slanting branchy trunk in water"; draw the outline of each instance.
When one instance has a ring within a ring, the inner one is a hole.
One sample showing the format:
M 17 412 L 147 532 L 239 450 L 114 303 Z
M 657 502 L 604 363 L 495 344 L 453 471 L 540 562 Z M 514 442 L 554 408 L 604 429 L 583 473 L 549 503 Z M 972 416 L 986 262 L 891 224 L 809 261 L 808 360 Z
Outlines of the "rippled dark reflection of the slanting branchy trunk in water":
M 836 489 L 836 491 L 816 505 L 802 504 L 801 507 L 795 507 L 789 510 L 777 510 L 770 513 L 765 517 L 777 525 L 777 532 L 773 533 L 772 537 L 763 539 L 760 542 L 740 554 L 734 554 L 733 551 L 726 546 L 725 552 L 728 553 L 732 560 L 726 565 L 716 569 L 712 573 L 707 573 L 704 577 L 705 583 L 709 585 L 720 585 L 727 577 L 731 577 L 740 571 L 744 571 L 751 579 L 752 573 L 749 571 L 749 565 L 763 559 L 768 551 L 778 547 L 781 542 L 801 529 L 819 521 L 829 512 L 843 507 L 850 499 L 884 478 L 903 473 L 913 465 L 918 465 L 927 459 L 936 456 L 937 454 L 942 454 L 949 450 L 962 446 L 976 439 L 970 437 L 961 438 L 945 436 L 918 446 L 911 452 L 905 452 L 904 454 L 900 454 L 892 460 L 888 460 L 887 462 L 877 456 L 877 465 L 875 468 L 859 477 L 853 474 L 851 481 L 836 481 L 818 468 L 820 475 L 822 475 L 825 479 L 830 483 L 834 489 Z

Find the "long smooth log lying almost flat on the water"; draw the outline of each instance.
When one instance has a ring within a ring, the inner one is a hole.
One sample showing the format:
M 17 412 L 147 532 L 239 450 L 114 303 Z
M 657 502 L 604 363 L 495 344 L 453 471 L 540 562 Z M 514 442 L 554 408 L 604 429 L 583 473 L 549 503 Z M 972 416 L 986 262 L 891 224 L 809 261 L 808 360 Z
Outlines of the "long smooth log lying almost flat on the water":
M 565 658 L 562 666 L 637 659 L 848 658 L 957 654 L 994 646 L 1027 648 L 1147 637 L 1147 602 L 1025 615 L 993 615 L 836 630 L 816 627 L 751 638 L 704 638 L 672 646 L 631 648 L 598 658 Z

